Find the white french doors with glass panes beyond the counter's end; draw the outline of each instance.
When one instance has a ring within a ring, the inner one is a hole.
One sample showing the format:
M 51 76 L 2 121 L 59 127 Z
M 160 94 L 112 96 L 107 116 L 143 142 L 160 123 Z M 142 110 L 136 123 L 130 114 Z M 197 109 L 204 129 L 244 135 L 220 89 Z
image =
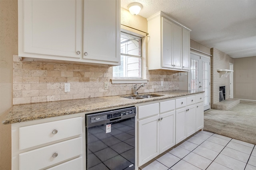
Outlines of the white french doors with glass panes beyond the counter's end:
M 204 91 L 204 110 L 210 109 L 210 57 L 190 53 L 189 90 Z

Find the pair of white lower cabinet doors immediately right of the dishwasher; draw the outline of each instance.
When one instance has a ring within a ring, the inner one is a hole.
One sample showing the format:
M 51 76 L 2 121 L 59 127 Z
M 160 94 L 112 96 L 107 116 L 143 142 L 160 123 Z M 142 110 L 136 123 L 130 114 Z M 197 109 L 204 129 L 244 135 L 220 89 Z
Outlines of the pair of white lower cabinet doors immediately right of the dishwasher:
M 139 166 L 175 145 L 175 111 L 138 121 Z

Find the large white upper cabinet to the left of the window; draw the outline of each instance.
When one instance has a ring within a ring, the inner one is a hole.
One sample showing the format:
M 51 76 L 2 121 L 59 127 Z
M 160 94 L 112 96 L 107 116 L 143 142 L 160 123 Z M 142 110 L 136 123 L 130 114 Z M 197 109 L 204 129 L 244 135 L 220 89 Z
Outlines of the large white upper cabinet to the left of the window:
M 19 57 L 118 65 L 120 0 L 19 0 Z

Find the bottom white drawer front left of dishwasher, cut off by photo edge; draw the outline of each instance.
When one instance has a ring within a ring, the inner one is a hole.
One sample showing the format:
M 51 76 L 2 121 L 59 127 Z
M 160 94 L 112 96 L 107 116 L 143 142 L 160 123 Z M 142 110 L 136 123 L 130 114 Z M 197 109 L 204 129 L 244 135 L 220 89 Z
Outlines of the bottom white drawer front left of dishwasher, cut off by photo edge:
M 82 156 L 46 170 L 82 170 Z

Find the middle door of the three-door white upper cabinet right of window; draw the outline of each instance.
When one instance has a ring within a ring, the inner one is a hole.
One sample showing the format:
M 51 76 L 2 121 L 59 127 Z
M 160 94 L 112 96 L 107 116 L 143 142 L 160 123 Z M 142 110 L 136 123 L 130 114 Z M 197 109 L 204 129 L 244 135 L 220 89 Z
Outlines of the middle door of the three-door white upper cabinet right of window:
M 173 24 L 173 41 L 172 41 L 172 64 L 173 68 L 182 68 L 182 27 Z

